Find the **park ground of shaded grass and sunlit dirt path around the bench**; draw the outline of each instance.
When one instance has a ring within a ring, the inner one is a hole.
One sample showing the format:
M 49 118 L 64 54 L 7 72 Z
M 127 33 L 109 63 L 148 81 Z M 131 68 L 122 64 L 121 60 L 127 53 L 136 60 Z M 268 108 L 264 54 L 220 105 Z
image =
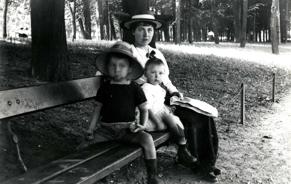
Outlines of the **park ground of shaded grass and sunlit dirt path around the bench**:
M 68 42 L 74 79 L 94 75 L 93 59 L 112 43 Z M 222 170 L 217 183 L 290 183 L 291 155 L 291 46 L 280 45 L 279 56 L 270 44 L 195 43 L 189 46 L 157 44 L 170 68 L 170 79 L 184 96 L 205 101 L 218 109 L 215 119 L 219 136 L 216 166 Z M 30 78 L 30 43 L 0 43 L 0 90 L 47 82 Z M 240 83 L 249 88 L 272 78 L 276 80 L 276 103 L 271 99 L 271 82 L 246 89 L 245 123 L 240 124 Z M 227 105 L 221 107 L 222 105 Z M 91 101 L 21 116 L 11 120 L 20 152 L 28 170 L 75 151 L 89 119 Z M 220 108 L 221 107 L 221 108 Z M 0 182 L 18 174 L 0 132 Z M 3 140 L 3 141 L 2 141 Z M 65 144 L 64 144 L 65 143 Z M 214 183 L 181 167 L 176 146 L 157 150 L 161 184 Z M 111 174 L 111 183 L 145 183 L 143 158 Z M 97 182 L 100 183 L 100 182 Z

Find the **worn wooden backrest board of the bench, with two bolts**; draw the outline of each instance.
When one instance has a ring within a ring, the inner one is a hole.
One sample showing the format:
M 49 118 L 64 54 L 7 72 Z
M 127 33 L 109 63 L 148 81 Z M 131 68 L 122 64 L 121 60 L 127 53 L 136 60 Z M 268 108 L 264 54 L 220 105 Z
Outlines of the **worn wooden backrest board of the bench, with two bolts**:
M 0 120 L 96 96 L 100 76 L 0 91 Z

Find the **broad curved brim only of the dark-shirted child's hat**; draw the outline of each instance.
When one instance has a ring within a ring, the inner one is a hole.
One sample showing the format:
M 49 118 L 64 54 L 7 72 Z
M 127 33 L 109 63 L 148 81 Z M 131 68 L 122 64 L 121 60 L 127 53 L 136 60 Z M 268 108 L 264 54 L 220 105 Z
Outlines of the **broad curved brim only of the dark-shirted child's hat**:
M 112 53 L 118 53 L 121 56 L 122 55 L 127 56 L 130 59 L 129 62 L 131 64 L 130 66 L 131 72 L 127 74 L 127 79 L 135 80 L 142 76 L 143 74 L 142 65 L 136 59 L 133 58 L 130 52 L 127 52 L 123 49 L 118 49 L 118 48 L 111 48 L 108 51 L 102 52 L 95 58 L 94 60 L 95 66 L 103 75 L 110 78 L 107 62 L 108 62 L 108 59 L 112 56 Z

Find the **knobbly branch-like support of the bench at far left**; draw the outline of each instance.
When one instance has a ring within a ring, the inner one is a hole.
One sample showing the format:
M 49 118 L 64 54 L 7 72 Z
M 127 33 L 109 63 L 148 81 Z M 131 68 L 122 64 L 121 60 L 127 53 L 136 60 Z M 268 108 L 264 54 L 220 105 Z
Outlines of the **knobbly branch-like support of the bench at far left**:
M 18 138 L 17 136 L 11 132 L 10 125 L 9 125 L 9 119 L 8 120 L 2 120 L 1 121 L 1 130 L 4 133 L 4 136 L 6 137 L 7 143 L 9 145 L 9 151 L 12 152 L 12 154 L 15 156 L 15 164 L 20 170 L 21 174 L 27 172 L 27 168 L 25 167 L 20 153 L 19 153 L 19 147 L 18 147 Z

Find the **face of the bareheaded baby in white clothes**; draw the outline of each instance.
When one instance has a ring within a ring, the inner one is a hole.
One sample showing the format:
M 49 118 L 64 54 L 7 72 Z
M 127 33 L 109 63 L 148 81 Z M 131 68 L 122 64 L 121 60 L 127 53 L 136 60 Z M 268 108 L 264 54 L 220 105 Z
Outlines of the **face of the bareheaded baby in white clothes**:
M 153 85 L 161 84 L 165 76 L 165 66 L 161 65 L 149 65 L 145 71 L 146 78 L 148 83 Z

